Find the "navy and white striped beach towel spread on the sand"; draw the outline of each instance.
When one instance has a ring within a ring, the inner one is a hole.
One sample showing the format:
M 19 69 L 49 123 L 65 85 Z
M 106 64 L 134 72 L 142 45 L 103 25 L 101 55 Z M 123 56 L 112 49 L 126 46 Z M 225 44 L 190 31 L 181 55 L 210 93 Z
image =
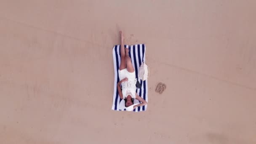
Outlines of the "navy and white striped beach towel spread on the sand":
M 136 78 L 139 80 L 141 84 L 141 88 L 137 88 L 136 92 L 139 96 L 141 96 L 143 99 L 148 101 L 147 80 L 142 81 L 138 78 L 139 67 L 141 63 L 145 61 L 146 46 L 144 44 L 125 45 L 125 48 L 129 48 L 129 56 L 131 57 L 133 67 L 135 69 Z M 115 45 L 115 47 L 113 48 L 113 60 L 114 60 L 114 69 L 115 69 L 115 82 L 114 82 L 112 110 L 121 111 L 121 109 L 119 109 L 119 104 L 121 99 L 117 91 L 117 83 L 120 81 L 119 75 L 118 75 L 118 69 L 120 66 L 120 45 Z M 142 107 L 136 107 L 136 109 L 134 109 L 133 111 L 140 112 L 145 110 L 147 110 L 147 105 Z

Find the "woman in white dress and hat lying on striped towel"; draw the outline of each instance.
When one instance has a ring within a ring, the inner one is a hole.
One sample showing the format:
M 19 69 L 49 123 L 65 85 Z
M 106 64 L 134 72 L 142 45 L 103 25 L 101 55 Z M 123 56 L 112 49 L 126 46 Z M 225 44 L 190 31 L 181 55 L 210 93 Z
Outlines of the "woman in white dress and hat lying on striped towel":
M 122 101 L 120 102 L 120 109 L 132 111 L 136 107 L 141 107 L 147 104 L 143 98 L 136 93 L 136 76 L 133 68 L 131 58 L 129 56 L 129 49 L 124 47 L 123 32 L 120 31 L 121 37 L 121 63 L 118 69 L 119 83 L 117 83 L 117 90 Z M 121 88 L 122 85 L 122 88 Z M 141 101 L 141 104 L 134 104 L 134 99 Z

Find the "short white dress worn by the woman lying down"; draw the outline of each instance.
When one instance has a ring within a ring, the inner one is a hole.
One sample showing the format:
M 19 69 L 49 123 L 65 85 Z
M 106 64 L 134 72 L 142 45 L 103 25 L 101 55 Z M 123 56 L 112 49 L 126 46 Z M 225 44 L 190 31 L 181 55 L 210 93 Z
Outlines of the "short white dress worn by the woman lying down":
M 136 75 L 134 72 L 128 72 L 127 69 L 118 70 L 119 79 L 123 80 L 125 77 L 128 78 L 128 81 L 121 83 L 122 85 L 122 94 L 123 99 L 126 99 L 128 95 L 131 95 L 133 99 L 136 97 Z

